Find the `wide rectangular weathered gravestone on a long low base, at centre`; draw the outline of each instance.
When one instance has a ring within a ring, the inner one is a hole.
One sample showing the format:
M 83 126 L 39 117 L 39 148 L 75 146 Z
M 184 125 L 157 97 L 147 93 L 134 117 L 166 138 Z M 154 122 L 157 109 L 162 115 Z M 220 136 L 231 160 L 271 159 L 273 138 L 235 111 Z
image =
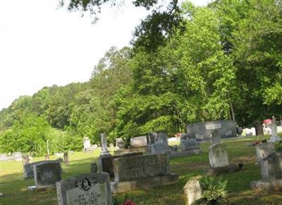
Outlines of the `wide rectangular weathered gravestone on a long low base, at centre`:
M 170 173 L 168 154 L 149 154 L 114 159 L 113 193 L 170 185 L 178 175 Z

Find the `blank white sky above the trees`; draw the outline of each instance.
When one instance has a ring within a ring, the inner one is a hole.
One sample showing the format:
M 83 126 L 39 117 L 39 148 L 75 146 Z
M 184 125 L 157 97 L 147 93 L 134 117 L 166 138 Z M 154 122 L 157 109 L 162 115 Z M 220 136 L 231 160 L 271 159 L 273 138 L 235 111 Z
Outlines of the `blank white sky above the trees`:
M 88 15 L 58 8 L 59 0 L 0 0 L 0 111 L 44 86 L 90 79 L 111 46 L 127 46 L 147 11 L 130 0 L 106 6 L 92 25 Z M 192 1 L 203 6 L 209 0 Z

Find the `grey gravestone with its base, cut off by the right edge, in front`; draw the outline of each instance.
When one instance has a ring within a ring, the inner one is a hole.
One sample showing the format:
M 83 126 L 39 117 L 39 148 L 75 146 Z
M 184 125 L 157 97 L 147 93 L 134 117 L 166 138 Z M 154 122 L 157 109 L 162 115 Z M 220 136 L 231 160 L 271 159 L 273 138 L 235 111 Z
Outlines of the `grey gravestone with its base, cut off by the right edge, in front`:
M 282 189 L 282 154 L 272 153 L 261 161 L 262 180 L 250 182 L 254 190 Z

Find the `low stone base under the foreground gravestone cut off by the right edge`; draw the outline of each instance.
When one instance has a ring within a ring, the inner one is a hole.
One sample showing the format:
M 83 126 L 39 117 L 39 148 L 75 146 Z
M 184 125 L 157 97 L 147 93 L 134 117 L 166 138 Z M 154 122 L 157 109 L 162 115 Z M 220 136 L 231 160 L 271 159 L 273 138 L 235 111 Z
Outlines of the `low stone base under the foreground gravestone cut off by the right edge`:
M 262 180 L 250 182 L 252 190 L 269 191 L 269 190 L 282 190 L 282 180 L 273 180 L 264 182 Z

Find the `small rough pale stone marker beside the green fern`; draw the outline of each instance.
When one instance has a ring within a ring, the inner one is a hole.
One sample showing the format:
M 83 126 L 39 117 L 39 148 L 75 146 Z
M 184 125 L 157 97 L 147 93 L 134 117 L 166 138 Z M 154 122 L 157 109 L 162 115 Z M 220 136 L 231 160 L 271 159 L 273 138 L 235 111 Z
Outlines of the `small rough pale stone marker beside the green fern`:
M 184 193 L 187 199 L 187 205 L 191 205 L 194 201 L 202 198 L 202 188 L 199 180 L 190 180 L 184 187 Z

